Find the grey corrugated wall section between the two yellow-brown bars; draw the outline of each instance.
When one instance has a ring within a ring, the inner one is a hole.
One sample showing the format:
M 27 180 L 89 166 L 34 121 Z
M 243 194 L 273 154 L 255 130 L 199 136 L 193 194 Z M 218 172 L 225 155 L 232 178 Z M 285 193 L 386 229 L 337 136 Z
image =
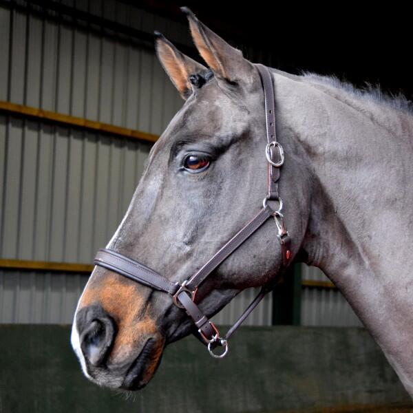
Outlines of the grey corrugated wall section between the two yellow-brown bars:
M 0 256 L 92 262 L 122 219 L 150 148 L 0 116 Z

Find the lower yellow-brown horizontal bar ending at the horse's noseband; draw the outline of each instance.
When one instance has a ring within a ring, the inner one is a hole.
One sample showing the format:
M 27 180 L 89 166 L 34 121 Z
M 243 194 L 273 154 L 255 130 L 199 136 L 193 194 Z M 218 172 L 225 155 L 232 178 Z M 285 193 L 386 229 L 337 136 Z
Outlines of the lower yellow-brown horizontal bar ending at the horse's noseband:
M 92 273 L 94 266 L 71 262 L 46 262 L 0 259 L 0 269 L 26 271 L 59 271 L 61 273 Z

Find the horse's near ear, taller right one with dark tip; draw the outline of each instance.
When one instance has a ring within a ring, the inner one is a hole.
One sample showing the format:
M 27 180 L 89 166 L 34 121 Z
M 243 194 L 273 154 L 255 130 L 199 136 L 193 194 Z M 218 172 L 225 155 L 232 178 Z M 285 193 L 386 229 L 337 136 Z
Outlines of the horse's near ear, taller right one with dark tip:
M 229 83 L 252 83 L 253 64 L 212 30 L 200 22 L 187 7 L 180 8 L 189 20 L 193 41 L 218 80 Z

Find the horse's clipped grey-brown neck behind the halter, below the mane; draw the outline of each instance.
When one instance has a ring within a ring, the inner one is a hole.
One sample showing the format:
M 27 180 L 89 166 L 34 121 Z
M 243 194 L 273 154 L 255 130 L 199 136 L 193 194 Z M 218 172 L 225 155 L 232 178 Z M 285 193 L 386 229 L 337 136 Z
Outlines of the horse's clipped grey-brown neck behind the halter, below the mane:
M 304 250 L 413 394 L 413 116 L 342 90 L 276 81 L 281 123 L 315 176 Z

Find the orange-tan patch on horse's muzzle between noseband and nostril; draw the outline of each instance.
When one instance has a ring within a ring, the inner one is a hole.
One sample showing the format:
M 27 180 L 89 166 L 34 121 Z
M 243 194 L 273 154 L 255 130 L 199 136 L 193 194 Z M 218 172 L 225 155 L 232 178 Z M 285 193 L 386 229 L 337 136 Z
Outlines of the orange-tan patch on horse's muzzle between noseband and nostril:
M 136 351 L 151 338 L 155 343 L 150 358 L 153 370 L 156 368 L 164 339 L 156 330 L 155 319 L 149 315 L 147 299 L 133 282 L 97 268 L 83 292 L 78 310 L 87 306 L 102 307 L 116 324 L 108 364 L 125 363 L 130 357 L 136 357 Z

